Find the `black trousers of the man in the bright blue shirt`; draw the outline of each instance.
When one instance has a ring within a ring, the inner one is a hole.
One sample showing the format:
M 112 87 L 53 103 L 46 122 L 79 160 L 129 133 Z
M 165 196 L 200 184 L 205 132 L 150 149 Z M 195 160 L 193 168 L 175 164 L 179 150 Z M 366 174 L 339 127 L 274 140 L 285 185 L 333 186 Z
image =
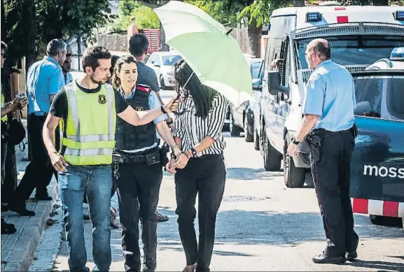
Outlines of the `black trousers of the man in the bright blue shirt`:
M 46 195 L 52 175 L 57 178 L 57 171 L 53 169 L 50 163 L 48 151 L 45 148 L 42 138 L 43 124 L 45 123 L 45 116 L 36 116 L 34 114 L 29 116 L 28 134 L 30 138 L 30 145 L 32 151 L 32 160 L 29 162 L 25 174 L 22 177 L 20 184 L 15 189 L 15 197 L 13 202 L 22 205 L 36 188 L 36 195 Z M 59 148 L 60 135 L 59 129 L 55 132 L 55 148 Z

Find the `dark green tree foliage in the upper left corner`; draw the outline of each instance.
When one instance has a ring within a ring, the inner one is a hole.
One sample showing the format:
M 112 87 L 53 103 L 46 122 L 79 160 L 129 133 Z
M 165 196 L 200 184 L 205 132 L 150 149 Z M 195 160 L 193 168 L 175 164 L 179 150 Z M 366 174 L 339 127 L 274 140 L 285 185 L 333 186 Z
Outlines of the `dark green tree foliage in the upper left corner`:
M 2 0 L 2 6 L 2 38 L 11 45 L 11 61 L 35 53 L 35 45 L 27 45 L 75 35 L 92 38 L 97 25 L 114 18 L 107 0 Z

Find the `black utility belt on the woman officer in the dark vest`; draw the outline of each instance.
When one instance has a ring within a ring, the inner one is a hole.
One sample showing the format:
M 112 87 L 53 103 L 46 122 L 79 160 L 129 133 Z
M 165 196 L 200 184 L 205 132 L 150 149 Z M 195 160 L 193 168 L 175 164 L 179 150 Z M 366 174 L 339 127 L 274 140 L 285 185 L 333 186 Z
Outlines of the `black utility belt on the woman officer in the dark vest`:
M 132 155 L 128 152 L 115 150 L 112 155 L 112 162 L 118 164 L 140 162 L 146 163 L 147 165 L 160 163 L 160 148 L 152 148 L 151 150 L 146 150 L 146 152 L 146 154 Z

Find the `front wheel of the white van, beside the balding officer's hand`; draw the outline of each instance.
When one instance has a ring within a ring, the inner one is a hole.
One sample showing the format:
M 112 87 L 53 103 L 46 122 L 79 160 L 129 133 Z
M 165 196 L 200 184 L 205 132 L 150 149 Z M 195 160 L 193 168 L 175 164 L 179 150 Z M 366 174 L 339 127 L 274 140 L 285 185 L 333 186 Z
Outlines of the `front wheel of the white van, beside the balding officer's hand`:
M 306 169 L 298 168 L 293 158 L 288 155 L 288 146 L 291 143 L 289 135 L 286 135 L 284 142 L 284 179 L 288 188 L 301 188 L 305 185 Z

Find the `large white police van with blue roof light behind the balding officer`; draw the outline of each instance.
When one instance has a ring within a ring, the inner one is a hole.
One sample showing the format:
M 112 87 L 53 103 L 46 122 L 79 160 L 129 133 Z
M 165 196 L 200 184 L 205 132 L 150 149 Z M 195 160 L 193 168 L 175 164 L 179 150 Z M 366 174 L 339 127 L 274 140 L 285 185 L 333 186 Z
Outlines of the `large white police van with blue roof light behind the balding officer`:
M 325 6 L 279 8 L 272 12 L 265 50 L 260 128 L 257 129 L 264 168 L 279 171 L 284 165 L 287 187 L 302 187 L 308 171 L 309 150 L 300 155 L 286 150 L 302 122 L 305 84 L 312 70 L 305 50 L 314 38 L 326 38 L 331 59 L 349 71 L 363 71 L 404 45 L 404 7 Z

